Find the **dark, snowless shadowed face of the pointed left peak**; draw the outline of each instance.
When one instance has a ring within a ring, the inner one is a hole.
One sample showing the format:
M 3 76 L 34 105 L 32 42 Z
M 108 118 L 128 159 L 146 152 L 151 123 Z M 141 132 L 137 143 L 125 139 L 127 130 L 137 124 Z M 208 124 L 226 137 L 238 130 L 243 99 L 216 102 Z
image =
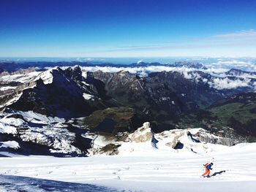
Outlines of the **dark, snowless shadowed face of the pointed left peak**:
M 52 74 L 53 83 L 45 85 L 42 80 L 37 80 L 34 88 L 23 91 L 20 99 L 9 107 L 53 117 L 83 116 L 92 112 L 75 82 L 70 82 L 55 70 Z

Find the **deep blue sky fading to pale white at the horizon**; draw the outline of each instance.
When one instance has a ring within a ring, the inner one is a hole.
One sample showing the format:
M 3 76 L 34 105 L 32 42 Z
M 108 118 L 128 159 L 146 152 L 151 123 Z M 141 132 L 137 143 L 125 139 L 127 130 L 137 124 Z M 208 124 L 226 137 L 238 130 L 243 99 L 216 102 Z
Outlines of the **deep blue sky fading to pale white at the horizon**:
M 176 56 L 256 57 L 256 1 L 0 1 L 0 57 Z

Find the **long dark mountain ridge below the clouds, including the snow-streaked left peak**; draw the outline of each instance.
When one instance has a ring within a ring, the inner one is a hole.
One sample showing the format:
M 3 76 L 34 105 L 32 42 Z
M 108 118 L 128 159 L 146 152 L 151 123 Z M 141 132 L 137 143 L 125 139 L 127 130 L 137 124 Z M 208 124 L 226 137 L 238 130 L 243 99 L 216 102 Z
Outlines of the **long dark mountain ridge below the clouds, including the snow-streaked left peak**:
M 140 123 L 152 120 L 159 130 L 174 128 L 175 122 L 186 113 L 253 88 L 215 88 L 211 83 L 216 77 L 201 71 L 155 72 L 139 77 L 125 71 L 84 74 L 80 66 L 73 66 L 28 74 L 35 75 L 32 82 L 30 76 L 20 74 L 23 84 L 12 80 L 19 86 L 10 89 L 8 84 L 0 103 L 10 101 L 18 90 L 22 95 L 9 104 L 10 108 L 59 118 L 83 117 L 108 107 L 131 107 Z M 217 80 L 229 79 L 217 77 Z

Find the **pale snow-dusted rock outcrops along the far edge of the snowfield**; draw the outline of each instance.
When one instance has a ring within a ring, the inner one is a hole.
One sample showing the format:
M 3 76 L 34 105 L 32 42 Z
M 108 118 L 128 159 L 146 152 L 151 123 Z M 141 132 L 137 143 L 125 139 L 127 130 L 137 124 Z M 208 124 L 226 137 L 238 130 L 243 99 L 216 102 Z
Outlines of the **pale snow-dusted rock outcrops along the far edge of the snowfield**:
M 150 123 L 143 123 L 143 126 L 138 128 L 134 133 L 127 134 L 123 140 L 116 136 L 116 139 L 110 139 L 108 142 L 102 142 L 102 135 L 98 137 L 94 135 L 94 143 L 101 145 L 94 145 L 90 150 L 91 155 L 121 155 L 127 153 L 140 153 L 143 150 L 153 150 L 151 148 L 151 128 Z M 230 138 L 217 137 L 210 134 L 203 128 L 188 128 L 188 129 L 174 129 L 170 131 L 163 131 L 159 134 L 154 134 L 154 137 L 159 141 L 157 147 L 159 150 L 165 150 L 166 153 L 189 151 L 191 153 L 207 153 L 208 151 L 216 150 L 214 145 L 231 146 L 237 144 Z M 123 147 L 124 146 L 124 147 Z

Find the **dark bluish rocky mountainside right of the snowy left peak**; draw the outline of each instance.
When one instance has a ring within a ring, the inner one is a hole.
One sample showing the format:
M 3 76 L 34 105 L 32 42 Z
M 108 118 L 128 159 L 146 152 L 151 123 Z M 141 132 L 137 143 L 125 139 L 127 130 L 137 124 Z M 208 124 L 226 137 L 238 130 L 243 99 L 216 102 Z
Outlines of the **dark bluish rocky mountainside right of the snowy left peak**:
M 112 98 L 108 103 L 134 108 L 140 119 L 154 122 L 159 131 L 175 128 L 184 114 L 206 109 L 216 101 L 252 90 L 250 87 L 235 86 L 219 88 L 222 81 L 227 80 L 231 85 L 234 77 L 222 78 L 215 88 L 214 80 L 220 80 L 219 77 L 214 79 L 211 74 L 200 71 L 157 72 L 148 74 L 148 77 L 124 71 L 97 71 L 90 73 L 90 77 L 103 83 L 105 94 Z

